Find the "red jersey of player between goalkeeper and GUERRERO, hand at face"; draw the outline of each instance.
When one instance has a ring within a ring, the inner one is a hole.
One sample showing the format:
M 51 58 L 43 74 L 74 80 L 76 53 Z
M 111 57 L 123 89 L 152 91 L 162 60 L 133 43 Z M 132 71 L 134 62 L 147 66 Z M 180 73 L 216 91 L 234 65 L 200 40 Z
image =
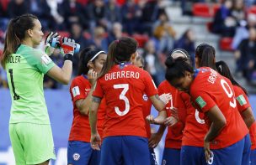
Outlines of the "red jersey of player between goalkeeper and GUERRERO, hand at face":
M 70 94 L 73 104 L 73 121 L 68 141 L 90 142 L 91 140 L 91 128 L 88 116 L 81 115 L 80 111 L 77 109 L 76 106 L 76 101 L 80 99 L 85 99 L 90 90 L 91 85 L 86 76 L 80 75 L 72 80 L 72 84 L 70 85 Z M 102 136 L 102 126 L 105 113 L 104 102 L 102 102 L 99 107 L 99 122 L 97 128 L 99 131 L 99 135 Z

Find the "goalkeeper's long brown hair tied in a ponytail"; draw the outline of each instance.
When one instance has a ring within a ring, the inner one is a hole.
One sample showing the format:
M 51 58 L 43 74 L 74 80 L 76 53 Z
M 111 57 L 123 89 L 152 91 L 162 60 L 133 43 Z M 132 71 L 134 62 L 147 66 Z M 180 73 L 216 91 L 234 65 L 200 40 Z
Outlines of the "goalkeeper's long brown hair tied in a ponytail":
M 25 32 L 35 26 L 35 15 L 24 14 L 11 19 L 8 24 L 7 33 L 4 40 L 3 56 L 1 62 L 5 67 L 5 60 L 9 54 L 13 54 L 18 49 L 19 44 L 25 39 Z

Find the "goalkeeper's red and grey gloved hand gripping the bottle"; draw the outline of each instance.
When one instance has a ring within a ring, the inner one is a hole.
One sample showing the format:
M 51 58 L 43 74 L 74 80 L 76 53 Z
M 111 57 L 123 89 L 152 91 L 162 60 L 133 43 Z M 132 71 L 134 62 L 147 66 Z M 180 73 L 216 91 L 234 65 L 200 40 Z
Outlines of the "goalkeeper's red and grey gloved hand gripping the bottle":
M 61 44 L 61 54 L 64 56 L 65 54 L 74 54 L 75 49 L 75 40 L 64 37 L 60 39 Z

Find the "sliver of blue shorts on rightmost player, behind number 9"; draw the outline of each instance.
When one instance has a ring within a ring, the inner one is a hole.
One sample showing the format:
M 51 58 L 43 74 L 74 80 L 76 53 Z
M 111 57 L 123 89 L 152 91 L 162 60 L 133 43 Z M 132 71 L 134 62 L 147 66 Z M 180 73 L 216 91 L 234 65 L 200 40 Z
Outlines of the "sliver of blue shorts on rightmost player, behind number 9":
M 244 137 L 242 165 L 250 164 L 251 140 L 249 134 Z

